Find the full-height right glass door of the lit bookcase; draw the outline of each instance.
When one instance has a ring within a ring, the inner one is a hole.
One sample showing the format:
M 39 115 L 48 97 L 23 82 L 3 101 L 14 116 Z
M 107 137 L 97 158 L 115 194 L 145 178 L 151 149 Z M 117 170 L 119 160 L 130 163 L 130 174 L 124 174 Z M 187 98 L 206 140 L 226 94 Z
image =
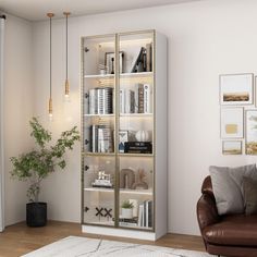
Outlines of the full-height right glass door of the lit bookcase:
M 119 35 L 119 225 L 143 230 L 154 228 L 152 47 L 152 32 Z

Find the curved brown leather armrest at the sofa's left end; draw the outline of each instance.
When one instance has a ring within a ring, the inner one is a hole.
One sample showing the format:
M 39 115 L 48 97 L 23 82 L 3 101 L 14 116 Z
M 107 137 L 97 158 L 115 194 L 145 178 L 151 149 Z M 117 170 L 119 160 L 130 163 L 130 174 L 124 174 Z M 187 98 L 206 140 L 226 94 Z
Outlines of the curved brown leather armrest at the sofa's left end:
M 210 224 L 217 223 L 220 220 L 216 207 L 215 198 L 209 194 L 203 194 L 197 203 L 197 219 L 200 232 Z

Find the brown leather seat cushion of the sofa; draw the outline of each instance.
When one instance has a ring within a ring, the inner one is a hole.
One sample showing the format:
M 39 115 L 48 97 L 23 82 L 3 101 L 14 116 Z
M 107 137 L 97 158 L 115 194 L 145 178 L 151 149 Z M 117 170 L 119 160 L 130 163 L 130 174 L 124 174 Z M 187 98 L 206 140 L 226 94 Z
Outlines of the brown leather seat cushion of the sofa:
M 203 231 L 209 244 L 257 246 L 257 215 L 224 216 L 221 221 Z

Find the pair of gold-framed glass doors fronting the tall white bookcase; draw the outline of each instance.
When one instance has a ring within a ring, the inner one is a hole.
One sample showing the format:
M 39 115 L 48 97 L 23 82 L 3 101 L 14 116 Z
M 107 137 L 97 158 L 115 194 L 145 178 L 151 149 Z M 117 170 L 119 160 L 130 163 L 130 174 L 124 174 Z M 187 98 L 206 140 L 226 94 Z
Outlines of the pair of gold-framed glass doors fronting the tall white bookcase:
M 154 32 L 83 38 L 83 223 L 155 228 Z

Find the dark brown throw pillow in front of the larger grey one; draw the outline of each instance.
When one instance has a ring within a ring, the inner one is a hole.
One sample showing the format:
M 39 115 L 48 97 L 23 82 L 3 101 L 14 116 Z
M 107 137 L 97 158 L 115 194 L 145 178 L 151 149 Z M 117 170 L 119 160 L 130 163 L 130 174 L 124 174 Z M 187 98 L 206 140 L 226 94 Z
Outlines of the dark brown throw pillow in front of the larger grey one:
M 244 176 L 243 179 L 243 196 L 245 204 L 245 215 L 257 213 L 257 181 Z

